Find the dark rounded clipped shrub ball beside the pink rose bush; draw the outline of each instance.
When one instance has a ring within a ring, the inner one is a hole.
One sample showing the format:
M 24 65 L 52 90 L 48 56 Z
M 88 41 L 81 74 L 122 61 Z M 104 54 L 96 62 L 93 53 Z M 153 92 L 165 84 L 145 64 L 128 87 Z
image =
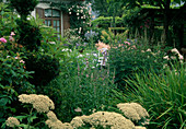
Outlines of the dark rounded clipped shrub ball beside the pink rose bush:
M 27 71 L 34 71 L 28 81 L 34 85 L 46 85 L 59 74 L 59 60 L 48 55 L 28 54 L 25 67 Z

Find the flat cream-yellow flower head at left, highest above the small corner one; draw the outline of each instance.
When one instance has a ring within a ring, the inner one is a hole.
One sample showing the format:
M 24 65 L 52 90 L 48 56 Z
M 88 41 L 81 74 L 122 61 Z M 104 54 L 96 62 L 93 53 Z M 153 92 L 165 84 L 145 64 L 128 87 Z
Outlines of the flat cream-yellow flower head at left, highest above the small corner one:
M 55 104 L 53 101 L 45 95 L 36 95 L 36 94 L 22 94 L 19 95 L 19 101 L 22 103 L 33 104 L 33 107 L 38 113 L 48 113 L 49 109 L 55 108 Z

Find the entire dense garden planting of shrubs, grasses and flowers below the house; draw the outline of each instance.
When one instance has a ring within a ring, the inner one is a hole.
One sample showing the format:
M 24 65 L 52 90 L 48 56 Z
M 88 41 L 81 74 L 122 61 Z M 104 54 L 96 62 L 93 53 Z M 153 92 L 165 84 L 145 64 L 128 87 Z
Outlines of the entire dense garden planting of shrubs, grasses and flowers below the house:
M 77 2 L 61 4 L 75 16 L 59 40 L 43 20 L 27 20 L 37 1 L 27 2 L 0 3 L 0 128 L 185 128 L 186 66 L 176 48 L 152 45 L 146 31 L 91 27 L 89 4 Z

